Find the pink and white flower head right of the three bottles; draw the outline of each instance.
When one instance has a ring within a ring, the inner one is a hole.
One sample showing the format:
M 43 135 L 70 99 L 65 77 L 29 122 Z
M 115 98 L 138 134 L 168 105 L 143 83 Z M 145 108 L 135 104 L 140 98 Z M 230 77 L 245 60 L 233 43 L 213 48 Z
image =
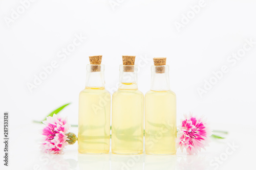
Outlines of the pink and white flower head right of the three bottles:
M 185 148 L 188 154 L 197 154 L 209 146 L 209 136 L 212 133 L 205 119 L 197 118 L 190 113 L 189 116 L 185 115 L 185 120 L 181 120 L 181 124 L 177 132 L 177 148 L 182 152 Z

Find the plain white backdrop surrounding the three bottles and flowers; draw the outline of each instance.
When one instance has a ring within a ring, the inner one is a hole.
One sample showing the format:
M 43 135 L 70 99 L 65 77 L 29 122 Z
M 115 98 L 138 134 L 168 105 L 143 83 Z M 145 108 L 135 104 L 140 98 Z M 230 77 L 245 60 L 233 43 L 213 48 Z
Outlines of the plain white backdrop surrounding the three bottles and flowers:
M 88 56 L 93 55 L 103 55 L 106 88 L 110 91 L 118 82 L 121 56 L 136 55 L 139 89 L 143 93 L 150 89 L 152 58 L 167 57 L 170 87 L 177 95 L 178 123 L 184 113 L 193 112 L 205 115 L 213 129 L 229 131 L 227 139 L 212 141 L 211 147 L 198 156 L 187 157 L 180 151 L 175 158 L 143 155 L 141 162 L 130 169 L 215 168 L 210 161 L 220 157 L 228 148 L 227 143 L 233 142 L 239 148 L 217 169 L 252 165 L 256 44 L 246 45 L 250 49 L 236 61 L 230 55 L 243 52 L 247 40 L 256 42 L 255 1 L 114 0 L 118 5 L 113 6 L 109 0 L 37 0 L 30 2 L 27 9 L 20 4 L 24 1 L 0 1 L 0 112 L 10 113 L 9 169 L 36 169 L 34 165 L 38 164 L 41 169 L 58 168 L 46 168 L 44 158 L 39 159 L 41 125 L 32 120 L 44 119 L 57 107 L 71 102 L 60 114 L 77 124 L 78 94 L 85 85 Z M 199 4 L 199 12 L 193 13 L 190 6 Z M 20 14 L 12 18 L 13 11 Z M 190 17 L 187 23 L 184 15 Z M 177 22 L 183 23 L 182 28 L 175 27 Z M 62 48 L 70 46 L 78 35 L 86 39 L 64 59 Z M 40 85 L 29 90 L 27 84 L 33 83 L 43 67 L 54 61 L 58 66 Z M 217 80 L 212 72 L 223 66 L 228 71 Z M 205 81 L 210 80 L 217 81 L 200 96 L 198 88 L 204 88 Z M 76 128 L 71 130 L 77 133 Z M 0 147 L 3 155 L 2 142 Z M 109 164 L 112 169 L 120 169 L 116 162 L 126 161 L 111 154 L 83 158 L 78 156 L 76 147 L 68 146 L 64 156 L 50 160 L 70 163 L 73 169 L 110 169 Z M 3 161 L 0 162 L 2 168 Z M 97 167 L 101 163 L 106 166 Z

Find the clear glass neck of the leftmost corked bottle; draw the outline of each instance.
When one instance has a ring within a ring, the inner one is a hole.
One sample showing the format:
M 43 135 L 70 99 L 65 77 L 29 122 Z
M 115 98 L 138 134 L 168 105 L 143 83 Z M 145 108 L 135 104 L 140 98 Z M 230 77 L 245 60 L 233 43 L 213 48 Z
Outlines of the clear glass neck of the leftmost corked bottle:
M 87 65 L 86 88 L 104 88 L 104 65 Z

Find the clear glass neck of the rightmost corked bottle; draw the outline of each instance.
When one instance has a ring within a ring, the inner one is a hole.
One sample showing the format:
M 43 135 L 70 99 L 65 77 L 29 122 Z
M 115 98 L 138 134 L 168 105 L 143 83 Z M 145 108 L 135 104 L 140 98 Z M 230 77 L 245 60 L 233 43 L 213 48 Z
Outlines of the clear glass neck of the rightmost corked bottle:
M 167 91 L 170 90 L 169 83 L 169 66 L 168 65 L 153 65 L 151 67 L 151 90 Z

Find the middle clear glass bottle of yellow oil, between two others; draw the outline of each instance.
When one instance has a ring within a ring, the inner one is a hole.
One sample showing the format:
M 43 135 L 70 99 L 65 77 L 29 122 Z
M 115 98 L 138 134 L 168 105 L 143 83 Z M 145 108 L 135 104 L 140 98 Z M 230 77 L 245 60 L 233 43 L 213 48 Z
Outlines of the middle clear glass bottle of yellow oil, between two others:
M 119 88 L 112 96 L 112 153 L 143 152 L 143 100 L 144 95 L 138 90 L 137 66 L 120 65 Z

